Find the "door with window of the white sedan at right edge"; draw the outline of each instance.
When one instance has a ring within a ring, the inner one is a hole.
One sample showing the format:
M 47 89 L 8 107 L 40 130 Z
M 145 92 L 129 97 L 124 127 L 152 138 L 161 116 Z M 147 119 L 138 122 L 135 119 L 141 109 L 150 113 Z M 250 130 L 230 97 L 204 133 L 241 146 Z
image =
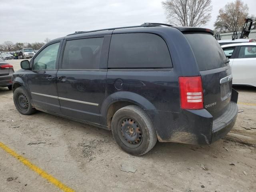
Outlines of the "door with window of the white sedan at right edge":
M 232 62 L 233 83 L 251 84 L 256 81 L 256 46 L 241 46 Z

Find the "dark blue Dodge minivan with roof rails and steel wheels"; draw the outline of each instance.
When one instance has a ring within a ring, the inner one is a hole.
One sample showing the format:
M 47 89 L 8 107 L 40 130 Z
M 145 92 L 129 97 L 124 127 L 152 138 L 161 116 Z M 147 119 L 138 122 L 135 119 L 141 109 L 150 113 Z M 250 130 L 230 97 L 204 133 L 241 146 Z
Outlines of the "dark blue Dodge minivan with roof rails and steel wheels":
M 145 23 L 48 42 L 12 76 L 14 104 L 112 130 L 143 155 L 160 142 L 211 144 L 236 122 L 238 93 L 205 28 Z

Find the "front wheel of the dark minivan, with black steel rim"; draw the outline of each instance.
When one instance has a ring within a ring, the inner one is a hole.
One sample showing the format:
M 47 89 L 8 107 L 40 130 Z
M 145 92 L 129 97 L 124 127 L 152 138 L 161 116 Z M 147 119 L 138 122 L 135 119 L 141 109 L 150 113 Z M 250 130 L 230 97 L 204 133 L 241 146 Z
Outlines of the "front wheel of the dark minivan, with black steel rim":
M 23 87 L 14 90 L 13 101 L 18 112 L 23 115 L 31 115 L 36 112 L 36 109 L 32 108 L 30 99 Z

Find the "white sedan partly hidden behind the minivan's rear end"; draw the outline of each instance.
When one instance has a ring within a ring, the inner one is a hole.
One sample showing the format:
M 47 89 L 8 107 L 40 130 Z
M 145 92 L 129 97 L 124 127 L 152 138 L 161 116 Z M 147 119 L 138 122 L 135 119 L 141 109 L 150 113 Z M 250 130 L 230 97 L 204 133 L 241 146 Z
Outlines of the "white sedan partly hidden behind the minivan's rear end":
M 256 42 L 226 44 L 221 47 L 230 58 L 232 84 L 256 87 Z

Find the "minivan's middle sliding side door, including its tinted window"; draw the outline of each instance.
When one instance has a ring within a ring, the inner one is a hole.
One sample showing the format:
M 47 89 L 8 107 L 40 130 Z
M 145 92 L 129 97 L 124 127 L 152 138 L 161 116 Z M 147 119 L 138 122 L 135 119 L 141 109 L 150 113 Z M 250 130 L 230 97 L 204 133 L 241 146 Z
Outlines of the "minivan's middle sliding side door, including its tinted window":
M 66 40 L 62 66 L 57 73 L 63 115 L 99 123 L 100 105 L 106 96 L 109 40 L 104 36 Z

